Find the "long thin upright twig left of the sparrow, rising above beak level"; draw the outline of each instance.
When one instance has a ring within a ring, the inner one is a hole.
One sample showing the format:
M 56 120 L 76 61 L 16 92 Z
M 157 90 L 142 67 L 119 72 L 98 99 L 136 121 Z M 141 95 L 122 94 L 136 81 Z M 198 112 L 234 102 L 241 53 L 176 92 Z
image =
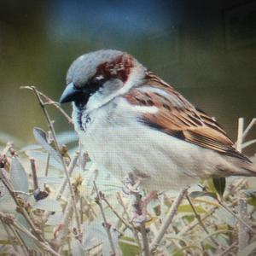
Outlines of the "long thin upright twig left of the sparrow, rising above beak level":
M 79 231 L 79 233 L 81 233 L 81 226 L 80 226 L 80 221 L 79 221 L 79 211 L 78 211 L 78 208 L 76 206 L 75 194 L 74 194 L 74 191 L 73 191 L 72 183 L 70 181 L 69 173 L 67 171 L 67 166 L 65 164 L 63 156 L 61 155 L 60 147 L 59 147 L 57 139 L 56 139 L 55 129 L 54 129 L 54 126 L 53 126 L 53 122 L 49 118 L 49 113 L 48 113 L 47 109 L 44 106 L 44 102 L 42 101 L 38 90 L 34 86 L 32 86 L 31 88 L 32 88 L 32 90 L 34 91 L 35 95 L 38 98 L 38 102 L 39 102 L 39 104 L 40 104 L 40 106 L 41 106 L 41 108 L 42 108 L 42 110 L 44 112 L 44 116 L 45 116 L 45 118 L 46 118 L 46 120 L 48 122 L 49 131 L 51 131 L 51 134 L 52 134 L 52 137 L 53 137 L 53 140 L 54 140 L 54 143 L 55 143 L 55 148 L 57 149 L 57 152 L 59 153 L 59 156 L 61 158 L 61 164 L 63 166 L 64 172 L 65 172 L 66 177 L 67 177 L 67 184 L 68 184 L 68 187 L 69 187 L 69 190 L 70 190 L 71 200 L 73 201 L 73 210 L 74 210 L 74 213 L 75 213 L 75 219 L 76 219 L 76 222 L 77 222 L 78 231 Z

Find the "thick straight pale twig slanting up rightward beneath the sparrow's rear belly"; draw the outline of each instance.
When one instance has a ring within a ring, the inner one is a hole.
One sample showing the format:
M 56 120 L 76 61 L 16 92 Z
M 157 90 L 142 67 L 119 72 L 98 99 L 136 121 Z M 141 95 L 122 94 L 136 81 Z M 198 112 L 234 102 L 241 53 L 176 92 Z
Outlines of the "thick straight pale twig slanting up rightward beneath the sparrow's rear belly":
M 159 233 L 154 237 L 154 240 L 150 244 L 150 252 L 153 252 L 156 249 L 156 247 L 158 247 L 161 239 L 163 238 L 163 236 L 166 233 L 166 230 L 172 223 L 172 219 L 177 212 L 177 207 L 183 201 L 183 196 L 186 195 L 187 192 L 188 192 L 188 188 L 182 189 L 181 192 L 179 193 L 179 195 L 177 195 L 176 200 L 172 203 L 172 207 L 171 207 L 170 211 L 167 213 L 166 219 L 165 219 L 164 223 L 161 225 Z

